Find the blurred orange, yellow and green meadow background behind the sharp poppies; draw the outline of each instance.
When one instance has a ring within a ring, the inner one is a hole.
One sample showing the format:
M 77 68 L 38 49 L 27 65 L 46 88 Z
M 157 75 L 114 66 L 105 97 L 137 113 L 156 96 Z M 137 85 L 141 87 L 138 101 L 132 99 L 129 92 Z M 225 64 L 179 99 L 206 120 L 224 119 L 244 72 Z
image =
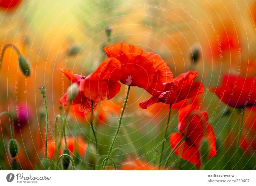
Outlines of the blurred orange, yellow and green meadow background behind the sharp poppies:
M 8 48 L 4 52 L 0 71 L 0 110 L 11 112 L 16 117 L 15 138 L 19 142 L 17 169 L 40 169 L 44 152 L 45 116 L 39 87 L 46 87 L 49 121 L 54 131 L 59 99 L 71 84 L 56 69 L 68 68 L 75 74 L 87 76 L 106 58 L 103 53 L 106 45 L 124 42 L 154 52 L 167 61 L 174 77 L 189 69 L 196 70 L 199 74 L 196 80 L 203 82 L 206 92 L 196 100 L 187 100 L 187 103 L 200 103 L 205 95 L 201 110 L 207 111 L 209 116 L 219 98 L 207 88 L 217 86 L 222 74 L 236 74 L 238 66 L 241 66 L 242 76 L 250 77 L 256 73 L 254 0 L 13 0 L 13 3 L 13 7 L 7 8 L 6 3 L 0 0 L 1 53 L 6 43 L 12 43 L 28 58 L 31 67 L 31 75 L 24 77 L 18 67 L 15 51 Z M 111 29 L 110 38 L 105 32 L 107 26 Z M 193 63 L 191 53 L 195 49 L 199 50 L 199 59 Z M 95 109 L 98 165 L 103 155 L 107 154 L 124 97 L 125 86 L 122 85 L 116 97 L 104 100 Z M 149 97 L 145 90 L 131 88 L 124 122 L 115 143 L 122 149 L 122 152 L 116 151 L 114 154 L 118 169 L 125 169 L 123 162 L 134 161 L 143 155 L 139 160 L 147 166 L 154 167 L 158 162 L 156 154 L 161 151 L 160 147 L 149 154 L 146 152 L 161 141 L 169 108 L 158 103 L 147 110 L 140 109 L 139 103 Z M 178 130 L 178 109 L 172 110 L 168 135 Z M 217 156 L 205 163 L 204 169 L 225 170 L 233 165 L 230 157 L 235 146 L 233 140 L 237 134 L 238 115 L 235 109 L 220 104 L 220 109 L 210 120 L 217 138 Z M 240 152 L 242 158 L 238 162 L 243 170 L 255 169 L 255 119 L 255 112 L 247 110 L 242 131 L 244 151 Z M 94 141 L 89 121 L 90 113 L 84 115 L 76 107 L 71 108 L 67 135 L 73 140 L 74 146 L 75 141 L 81 144 L 78 169 L 91 169 L 88 162 L 93 155 L 85 152 L 87 144 Z M 3 116 L 0 138 L 2 170 L 11 169 L 13 161 L 7 151 L 9 139 L 9 119 Z M 164 157 L 170 150 L 167 141 Z M 172 161 L 175 159 L 177 156 L 173 155 Z M 100 166 L 96 169 L 100 169 Z M 174 169 L 194 170 L 196 167 L 180 159 Z

